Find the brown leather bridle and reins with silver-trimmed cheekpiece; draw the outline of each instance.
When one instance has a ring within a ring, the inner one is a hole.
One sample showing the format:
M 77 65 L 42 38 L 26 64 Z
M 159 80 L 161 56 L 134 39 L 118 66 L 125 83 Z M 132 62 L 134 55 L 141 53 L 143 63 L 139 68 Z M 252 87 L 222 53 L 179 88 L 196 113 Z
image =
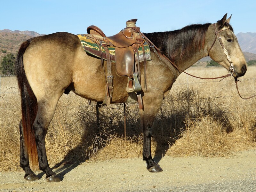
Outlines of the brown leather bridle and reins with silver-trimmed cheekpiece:
M 228 51 L 225 49 L 224 44 L 222 43 L 222 40 L 221 40 L 221 37 L 220 37 L 220 32 L 223 31 L 223 30 L 227 30 L 229 27 L 224 26 L 223 28 L 221 28 L 221 29 L 218 31 L 218 30 L 217 30 L 217 27 L 216 27 L 216 23 L 213 23 L 213 28 L 214 28 L 214 31 L 215 31 L 215 40 L 214 40 L 212 46 L 210 47 L 210 49 L 208 50 L 208 56 L 209 56 L 209 53 L 210 53 L 210 51 L 211 51 L 213 45 L 215 44 L 215 42 L 216 42 L 216 40 L 217 40 L 217 38 L 218 38 L 218 40 L 219 40 L 219 42 L 220 42 L 220 45 L 221 45 L 221 47 L 222 47 L 222 49 L 223 49 L 223 52 L 224 52 L 225 55 L 227 56 L 227 60 L 228 60 L 228 62 L 230 63 L 230 66 L 229 66 L 229 68 L 228 68 L 229 73 L 228 73 L 227 75 L 219 76 L 219 77 L 212 77 L 212 78 L 205 78 L 205 77 L 194 76 L 194 75 L 191 75 L 191 74 L 185 72 L 184 70 L 180 69 L 180 68 L 179 68 L 177 65 L 175 65 L 171 60 L 169 60 L 164 54 L 162 54 L 161 51 L 156 47 L 156 45 L 154 45 L 146 36 L 144 36 L 144 34 L 143 34 L 142 32 L 140 32 L 140 31 L 137 31 L 137 32 L 139 32 L 139 33 L 142 34 L 142 37 L 148 42 L 149 46 L 150 46 L 150 47 L 154 50 L 154 52 L 158 55 L 159 59 L 162 60 L 162 61 L 164 61 L 164 62 L 168 65 L 168 67 L 169 67 L 171 70 L 172 70 L 172 68 L 171 68 L 171 66 L 169 65 L 169 63 L 171 63 L 172 66 L 175 67 L 179 72 L 181 71 L 181 72 L 183 72 L 183 73 L 185 73 L 185 74 L 187 74 L 187 75 L 189 75 L 189 76 L 192 76 L 192 77 L 195 77 L 195 78 L 199 78 L 199 79 L 220 79 L 220 78 L 222 78 L 222 79 L 220 80 L 220 81 L 222 81 L 224 78 L 229 77 L 229 76 L 232 76 L 232 75 L 235 73 L 235 68 L 234 68 L 234 66 L 233 66 L 233 62 L 231 61 L 231 57 L 228 55 Z M 173 71 L 173 70 L 172 70 L 172 71 Z M 181 73 L 181 72 L 180 72 L 180 73 Z M 174 76 L 175 76 L 175 73 L 173 73 L 173 74 L 174 74 Z M 177 78 L 177 76 L 175 76 L 175 77 Z M 253 95 L 253 96 L 251 96 L 251 97 L 243 98 L 243 97 L 240 95 L 240 92 L 239 92 L 239 90 L 238 90 L 238 85 L 237 85 L 237 82 L 238 82 L 238 81 L 239 81 L 239 80 L 237 80 L 237 77 L 235 77 L 236 90 L 237 90 L 237 92 L 238 92 L 238 95 L 239 95 L 242 99 L 247 100 L 247 99 L 251 99 L 251 98 L 253 98 L 253 97 L 256 96 L 256 94 L 255 94 L 255 95 Z

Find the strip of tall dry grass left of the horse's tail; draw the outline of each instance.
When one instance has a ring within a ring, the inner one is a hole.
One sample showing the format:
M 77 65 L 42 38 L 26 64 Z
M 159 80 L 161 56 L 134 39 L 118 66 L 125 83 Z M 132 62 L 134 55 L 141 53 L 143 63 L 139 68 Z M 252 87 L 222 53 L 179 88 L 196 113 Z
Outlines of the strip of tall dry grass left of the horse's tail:
M 16 94 L 16 77 L 0 80 L 0 171 L 17 170 L 20 162 L 20 103 L 17 101 L 20 98 Z

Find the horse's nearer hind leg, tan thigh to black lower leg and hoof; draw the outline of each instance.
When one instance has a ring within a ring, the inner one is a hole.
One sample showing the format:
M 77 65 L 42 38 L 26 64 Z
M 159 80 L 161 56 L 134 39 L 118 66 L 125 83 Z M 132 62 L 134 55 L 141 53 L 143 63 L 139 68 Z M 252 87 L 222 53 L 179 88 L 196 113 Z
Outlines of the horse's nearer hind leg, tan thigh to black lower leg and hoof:
M 49 182 L 60 181 L 60 178 L 56 175 L 55 172 L 51 170 L 48 164 L 45 150 L 45 136 L 48 130 L 48 126 L 52 121 L 52 117 L 55 113 L 55 109 L 60 96 L 55 96 L 55 98 L 47 97 L 47 99 L 44 98 L 43 100 L 38 101 L 38 111 L 33 125 L 35 131 L 39 169 L 45 172 L 46 180 Z

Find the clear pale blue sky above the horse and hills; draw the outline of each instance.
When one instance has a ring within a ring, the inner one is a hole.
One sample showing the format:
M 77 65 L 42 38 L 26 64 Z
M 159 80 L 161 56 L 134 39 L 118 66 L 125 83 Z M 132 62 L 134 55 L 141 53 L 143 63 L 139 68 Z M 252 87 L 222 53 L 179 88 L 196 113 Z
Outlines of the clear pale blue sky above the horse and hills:
M 255 8 L 255 0 L 4 0 L 0 30 L 81 34 L 88 26 L 96 25 L 111 36 L 125 27 L 125 21 L 134 18 L 138 19 L 140 30 L 147 33 L 214 23 L 228 13 L 228 17 L 232 14 L 230 24 L 237 34 L 256 32 Z

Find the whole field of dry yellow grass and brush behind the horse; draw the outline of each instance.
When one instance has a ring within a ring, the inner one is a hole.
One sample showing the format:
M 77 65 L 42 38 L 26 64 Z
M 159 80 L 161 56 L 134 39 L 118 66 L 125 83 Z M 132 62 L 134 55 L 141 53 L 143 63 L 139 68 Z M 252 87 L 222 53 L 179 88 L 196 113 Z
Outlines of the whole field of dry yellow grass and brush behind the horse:
M 240 78 L 244 96 L 255 94 L 256 81 L 250 66 Z M 189 73 L 214 77 L 223 68 L 190 68 Z M 0 84 L 0 171 L 19 167 L 20 97 L 15 77 Z M 101 107 L 97 122 L 95 103 L 73 93 L 60 98 L 46 136 L 49 163 L 105 160 L 142 156 L 142 133 L 137 104 L 127 104 L 126 140 L 124 106 Z M 238 97 L 233 79 L 200 80 L 181 74 L 156 117 L 153 155 L 228 156 L 255 147 L 256 102 Z

